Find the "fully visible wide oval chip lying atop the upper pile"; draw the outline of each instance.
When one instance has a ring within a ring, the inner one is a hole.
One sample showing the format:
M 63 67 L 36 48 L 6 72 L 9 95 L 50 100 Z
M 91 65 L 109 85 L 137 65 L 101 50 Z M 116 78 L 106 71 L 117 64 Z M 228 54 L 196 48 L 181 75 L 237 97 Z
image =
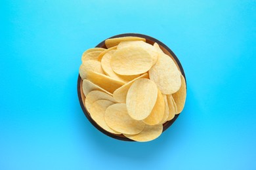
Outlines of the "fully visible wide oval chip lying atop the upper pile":
M 118 75 L 139 75 L 152 67 L 152 56 L 140 47 L 121 48 L 113 54 L 111 67 Z

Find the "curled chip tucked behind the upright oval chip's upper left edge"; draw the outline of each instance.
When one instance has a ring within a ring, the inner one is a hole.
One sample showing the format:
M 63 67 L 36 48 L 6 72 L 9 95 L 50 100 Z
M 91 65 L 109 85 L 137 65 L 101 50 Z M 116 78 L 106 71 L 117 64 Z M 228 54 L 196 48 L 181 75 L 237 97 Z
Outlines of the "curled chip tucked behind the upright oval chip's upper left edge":
M 117 88 L 117 90 L 115 90 L 115 92 L 113 93 L 114 99 L 119 103 L 126 103 L 127 92 L 131 87 L 131 84 L 133 84 L 133 82 L 135 82 L 135 80 L 138 80 L 139 78 L 148 78 L 148 73 L 144 73 L 143 75 L 131 80 L 120 88 Z

